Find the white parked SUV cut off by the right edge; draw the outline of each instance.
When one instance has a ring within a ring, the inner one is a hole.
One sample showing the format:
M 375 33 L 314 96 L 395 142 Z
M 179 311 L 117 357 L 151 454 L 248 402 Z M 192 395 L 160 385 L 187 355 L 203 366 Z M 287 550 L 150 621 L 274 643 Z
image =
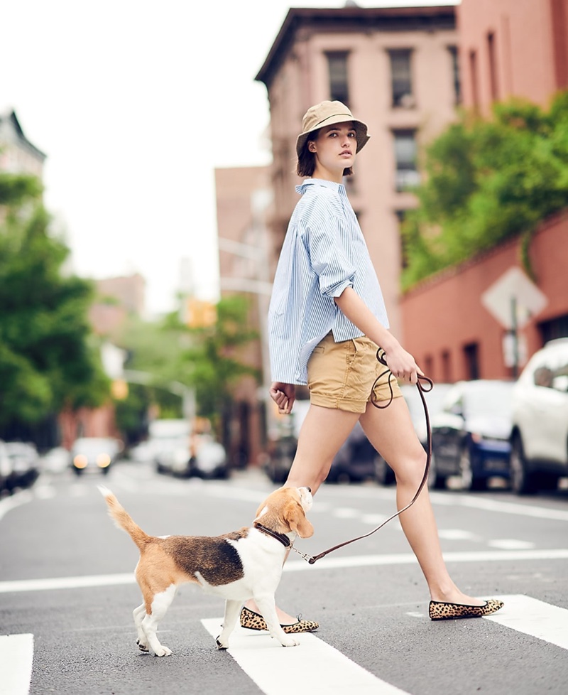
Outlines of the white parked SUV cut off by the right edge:
M 568 475 L 568 338 L 535 352 L 513 389 L 510 480 L 518 495 Z

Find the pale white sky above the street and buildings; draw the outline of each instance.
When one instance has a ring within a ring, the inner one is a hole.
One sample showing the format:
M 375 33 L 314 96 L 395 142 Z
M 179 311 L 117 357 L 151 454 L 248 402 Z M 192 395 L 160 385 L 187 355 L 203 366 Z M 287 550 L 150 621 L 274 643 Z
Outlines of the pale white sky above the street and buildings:
M 219 296 L 214 169 L 270 163 L 254 77 L 290 6 L 334 0 L 18 0 L 2 8 L 0 112 L 47 154 L 45 205 L 94 279 L 140 273 L 148 317 Z M 363 1 L 361 7 L 454 0 Z

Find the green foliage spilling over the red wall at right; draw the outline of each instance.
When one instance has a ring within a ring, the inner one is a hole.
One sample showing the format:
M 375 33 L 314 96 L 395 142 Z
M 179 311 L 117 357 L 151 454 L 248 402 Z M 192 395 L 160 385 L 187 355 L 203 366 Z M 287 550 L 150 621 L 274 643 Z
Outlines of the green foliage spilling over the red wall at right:
M 419 205 L 403 225 L 403 289 L 513 236 L 523 261 L 538 222 L 568 205 L 568 92 L 550 109 L 513 99 L 466 112 L 425 152 Z

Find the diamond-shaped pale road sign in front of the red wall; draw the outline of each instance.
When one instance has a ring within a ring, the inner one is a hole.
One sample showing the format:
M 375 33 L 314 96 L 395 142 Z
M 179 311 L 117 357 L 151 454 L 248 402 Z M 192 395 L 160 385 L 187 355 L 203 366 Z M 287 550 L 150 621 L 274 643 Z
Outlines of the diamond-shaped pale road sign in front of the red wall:
M 481 303 L 507 330 L 523 328 L 548 303 L 520 268 L 512 267 L 482 295 Z

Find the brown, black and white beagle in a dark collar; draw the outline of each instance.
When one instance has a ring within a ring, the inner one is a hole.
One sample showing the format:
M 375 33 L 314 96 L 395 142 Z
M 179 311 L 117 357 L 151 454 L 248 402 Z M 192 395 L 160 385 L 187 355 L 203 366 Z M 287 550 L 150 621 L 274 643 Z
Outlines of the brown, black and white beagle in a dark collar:
M 99 490 L 116 526 L 140 550 L 136 581 L 143 603 L 133 610 L 133 618 L 142 652 L 152 650 L 158 657 L 172 653 L 160 644 L 156 632 L 178 586 L 186 582 L 195 582 L 225 599 L 218 649 L 229 647 L 241 606 L 250 598 L 256 601 L 272 637 L 283 647 L 298 644 L 278 623 L 274 595 L 295 537 L 309 538 L 314 532 L 306 518 L 312 507 L 310 487 L 278 488 L 258 507 L 251 527 L 216 537 L 148 536 L 107 487 L 99 485 Z

